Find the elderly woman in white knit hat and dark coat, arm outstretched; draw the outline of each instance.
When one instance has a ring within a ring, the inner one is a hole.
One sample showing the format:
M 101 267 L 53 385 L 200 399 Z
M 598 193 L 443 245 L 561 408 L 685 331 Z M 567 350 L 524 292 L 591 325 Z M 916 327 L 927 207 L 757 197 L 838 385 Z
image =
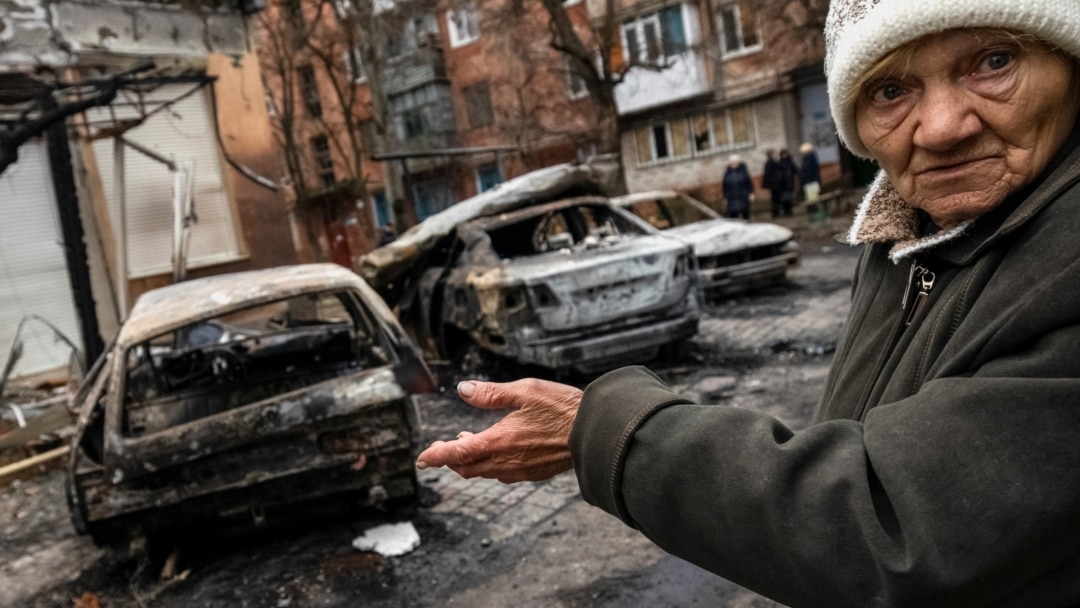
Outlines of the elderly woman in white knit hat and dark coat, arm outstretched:
M 826 40 L 840 137 L 883 171 L 814 424 L 639 367 L 464 382 L 516 410 L 419 465 L 572 465 L 589 502 L 792 606 L 1080 605 L 1080 2 L 834 0 Z

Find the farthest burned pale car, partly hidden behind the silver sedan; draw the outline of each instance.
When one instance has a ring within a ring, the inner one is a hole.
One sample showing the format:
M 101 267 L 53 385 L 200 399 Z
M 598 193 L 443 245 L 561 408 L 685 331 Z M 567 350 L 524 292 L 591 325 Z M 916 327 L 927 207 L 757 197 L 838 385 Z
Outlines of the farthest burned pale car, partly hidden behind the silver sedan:
M 783 282 L 801 261 L 792 231 L 718 213 L 681 192 L 660 190 L 618 197 L 611 203 L 664 234 L 693 246 L 705 296 L 717 298 Z

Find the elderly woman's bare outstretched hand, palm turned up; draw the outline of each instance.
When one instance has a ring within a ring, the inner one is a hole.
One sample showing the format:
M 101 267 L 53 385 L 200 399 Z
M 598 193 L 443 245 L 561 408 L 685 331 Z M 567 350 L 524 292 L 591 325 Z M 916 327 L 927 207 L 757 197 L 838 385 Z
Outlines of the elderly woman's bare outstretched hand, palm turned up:
M 465 403 L 485 409 L 513 409 L 480 433 L 462 431 L 450 442 L 434 442 L 417 468 L 449 467 L 462 477 L 502 483 L 538 482 L 570 470 L 570 428 L 580 389 L 528 378 L 513 382 L 465 380 L 458 384 Z

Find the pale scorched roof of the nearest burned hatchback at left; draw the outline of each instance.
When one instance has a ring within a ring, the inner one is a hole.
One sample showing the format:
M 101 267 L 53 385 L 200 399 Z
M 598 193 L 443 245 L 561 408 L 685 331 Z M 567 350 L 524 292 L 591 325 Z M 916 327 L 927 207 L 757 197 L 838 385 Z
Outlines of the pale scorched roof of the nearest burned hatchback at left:
M 335 264 L 301 264 L 216 274 L 151 289 L 136 300 L 117 336 L 129 347 L 183 327 L 251 306 L 298 294 L 359 288 L 363 280 Z

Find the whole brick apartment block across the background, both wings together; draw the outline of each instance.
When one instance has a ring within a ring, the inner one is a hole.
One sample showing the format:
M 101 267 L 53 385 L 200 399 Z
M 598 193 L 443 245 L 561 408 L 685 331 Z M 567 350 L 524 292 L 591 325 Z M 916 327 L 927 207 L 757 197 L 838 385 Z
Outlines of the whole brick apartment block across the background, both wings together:
M 684 190 L 720 208 L 729 154 L 759 177 L 766 150 L 796 152 L 804 141 L 818 148 L 826 180 L 839 179 L 820 33 L 771 21 L 765 4 L 622 0 L 608 15 L 600 0 L 563 2 L 599 72 L 599 58 L 610 58 L 604 76 L 606 85 L 618 82 L 630 190 Z M 301 37 L 319 40 L 321 52 L 293 53 L 293 75 L 267 80 L 278 111 L 294 117 L 284 153 L 305 176 L 298 200 L 315 203 L 305 205 L 309 239 L 339 264 L 374 246 L 379 227 L 404 230 L 508 178 L 595 153 L 603 141 L 604 110 L 569 56 L 552 48 L 539 2 L 328 6 L 281 0 L 267 10 L 323 28 L 302 26 Z M 607 48 L 605 27 L 618 30 Z M 350 118 L 335 118 L 341 112 Z M 360 135 L 351 146 L 342 144 L 350 129 Z

